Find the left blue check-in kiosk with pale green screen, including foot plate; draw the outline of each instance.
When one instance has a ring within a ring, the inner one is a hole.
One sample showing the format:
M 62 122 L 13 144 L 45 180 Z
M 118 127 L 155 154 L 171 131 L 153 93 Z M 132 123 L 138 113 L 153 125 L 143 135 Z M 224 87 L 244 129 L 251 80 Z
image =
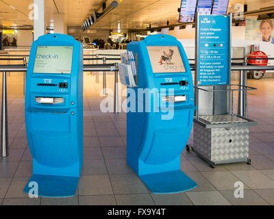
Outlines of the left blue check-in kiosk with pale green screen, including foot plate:
M 32 44 L 25 94 L 33 175 L 24 192 L 74 196 L 83 164 L 83 48 L 63 34 Z

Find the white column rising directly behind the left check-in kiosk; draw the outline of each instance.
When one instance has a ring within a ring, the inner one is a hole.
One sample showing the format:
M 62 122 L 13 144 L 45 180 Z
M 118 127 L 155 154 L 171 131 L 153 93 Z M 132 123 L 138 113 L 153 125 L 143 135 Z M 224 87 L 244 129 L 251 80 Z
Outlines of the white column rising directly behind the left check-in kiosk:
M 45 35 L 45 0 L 34 0 L 34 40 Z

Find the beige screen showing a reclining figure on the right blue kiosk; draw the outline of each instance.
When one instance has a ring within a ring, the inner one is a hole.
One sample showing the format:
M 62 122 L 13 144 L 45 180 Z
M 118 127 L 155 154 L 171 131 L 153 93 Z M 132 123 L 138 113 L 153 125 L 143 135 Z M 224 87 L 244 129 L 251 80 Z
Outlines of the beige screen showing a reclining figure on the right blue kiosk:
M 186 68 L 176 46 L 147 47 L 153 73 L 184 73 Z

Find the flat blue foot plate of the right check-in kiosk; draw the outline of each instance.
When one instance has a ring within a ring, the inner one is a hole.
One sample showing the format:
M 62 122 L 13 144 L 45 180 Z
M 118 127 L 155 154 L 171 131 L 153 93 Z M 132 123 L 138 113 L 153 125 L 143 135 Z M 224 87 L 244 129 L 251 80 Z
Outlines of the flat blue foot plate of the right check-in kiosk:
M 181 170 L 141 175 L 139 177 L 154 194 L 185 192 L 197 187 L 195 181 L 192 181 Z

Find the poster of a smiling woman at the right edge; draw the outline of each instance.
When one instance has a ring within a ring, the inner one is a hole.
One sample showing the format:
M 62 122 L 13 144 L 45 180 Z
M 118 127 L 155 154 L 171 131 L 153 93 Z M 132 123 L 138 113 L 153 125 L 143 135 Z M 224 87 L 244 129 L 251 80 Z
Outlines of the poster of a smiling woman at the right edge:
M 246 18 L 245 38 L 274 44 L 274 19 L 257 21 L 257 16 Z

